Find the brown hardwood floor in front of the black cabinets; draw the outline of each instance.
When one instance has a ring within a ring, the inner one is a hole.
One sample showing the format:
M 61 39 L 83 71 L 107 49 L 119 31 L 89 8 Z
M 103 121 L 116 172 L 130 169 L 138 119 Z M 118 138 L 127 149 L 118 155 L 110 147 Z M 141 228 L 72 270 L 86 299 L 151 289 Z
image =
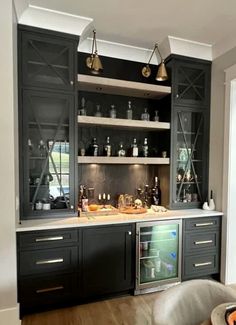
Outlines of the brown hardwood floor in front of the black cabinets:
M 158 292 L 25 316 L 22 325 L 151 325 Z

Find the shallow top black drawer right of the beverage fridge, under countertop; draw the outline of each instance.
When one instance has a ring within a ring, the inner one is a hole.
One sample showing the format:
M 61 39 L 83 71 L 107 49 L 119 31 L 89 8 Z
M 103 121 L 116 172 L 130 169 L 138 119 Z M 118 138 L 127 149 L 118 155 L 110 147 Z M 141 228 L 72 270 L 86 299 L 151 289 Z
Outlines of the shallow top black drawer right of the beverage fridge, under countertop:
M 211 230 L 220 227 L 220 217 L 193 218 L 184 220 L 185 231 Z

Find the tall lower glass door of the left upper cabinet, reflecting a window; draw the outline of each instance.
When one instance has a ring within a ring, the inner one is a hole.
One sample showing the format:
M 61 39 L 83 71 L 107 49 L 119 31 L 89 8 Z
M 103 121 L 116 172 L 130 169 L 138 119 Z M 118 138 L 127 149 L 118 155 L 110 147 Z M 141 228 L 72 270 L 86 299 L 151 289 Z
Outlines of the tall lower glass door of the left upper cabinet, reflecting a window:
M 25 91 L 22 216 L 74 211 L 73 96 Z

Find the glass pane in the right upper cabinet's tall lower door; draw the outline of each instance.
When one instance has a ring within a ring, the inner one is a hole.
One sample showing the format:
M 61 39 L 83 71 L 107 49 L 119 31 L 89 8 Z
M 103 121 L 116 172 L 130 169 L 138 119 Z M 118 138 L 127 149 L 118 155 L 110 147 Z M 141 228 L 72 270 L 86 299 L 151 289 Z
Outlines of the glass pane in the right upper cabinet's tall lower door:
M 177 113 L 176 200 L 202 201 L 203 114 Z

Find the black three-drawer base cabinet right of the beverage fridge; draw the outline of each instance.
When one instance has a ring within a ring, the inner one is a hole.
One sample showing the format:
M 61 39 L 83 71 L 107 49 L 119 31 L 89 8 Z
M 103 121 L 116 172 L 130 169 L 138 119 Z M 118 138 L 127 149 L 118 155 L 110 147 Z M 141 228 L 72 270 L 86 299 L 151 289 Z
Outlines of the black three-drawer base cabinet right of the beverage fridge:
M 183 221 L 183 280 L 220 272 L 220 234 L 221 217 Z

